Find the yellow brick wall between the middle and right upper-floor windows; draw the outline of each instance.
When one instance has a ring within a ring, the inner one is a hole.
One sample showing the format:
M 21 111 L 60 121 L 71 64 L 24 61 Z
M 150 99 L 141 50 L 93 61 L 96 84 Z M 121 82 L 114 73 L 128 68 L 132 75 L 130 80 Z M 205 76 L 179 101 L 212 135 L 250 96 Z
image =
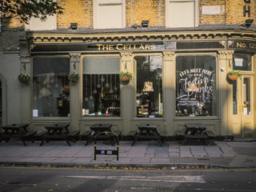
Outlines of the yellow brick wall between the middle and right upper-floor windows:
M 140 25 L 149 20 L 150 26 L 165 26 L 165 0 L 126 0 L 126 26 Z

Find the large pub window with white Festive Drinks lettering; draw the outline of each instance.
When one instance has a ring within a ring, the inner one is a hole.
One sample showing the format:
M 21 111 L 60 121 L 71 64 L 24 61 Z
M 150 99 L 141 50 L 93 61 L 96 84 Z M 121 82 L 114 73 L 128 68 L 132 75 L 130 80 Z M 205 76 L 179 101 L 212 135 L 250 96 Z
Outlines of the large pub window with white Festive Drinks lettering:
M 176 58 L 176 116 L 216 116 L 216 58 Z

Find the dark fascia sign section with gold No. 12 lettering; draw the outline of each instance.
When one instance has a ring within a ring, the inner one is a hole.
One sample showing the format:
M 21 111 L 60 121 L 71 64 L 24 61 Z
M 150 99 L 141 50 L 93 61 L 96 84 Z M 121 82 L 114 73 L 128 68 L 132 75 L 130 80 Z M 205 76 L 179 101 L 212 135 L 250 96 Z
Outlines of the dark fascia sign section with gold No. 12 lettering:
M 256 51 L 256 42 L 252 41 L 229 41 L 229 49 Z

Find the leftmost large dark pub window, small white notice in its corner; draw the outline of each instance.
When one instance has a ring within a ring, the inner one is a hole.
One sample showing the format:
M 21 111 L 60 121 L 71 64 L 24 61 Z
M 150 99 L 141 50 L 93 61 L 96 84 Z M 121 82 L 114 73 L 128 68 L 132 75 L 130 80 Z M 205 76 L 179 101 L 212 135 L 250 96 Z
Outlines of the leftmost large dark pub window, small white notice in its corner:
M 70 116 L 70 58 L 34 58 L 33 117 Z

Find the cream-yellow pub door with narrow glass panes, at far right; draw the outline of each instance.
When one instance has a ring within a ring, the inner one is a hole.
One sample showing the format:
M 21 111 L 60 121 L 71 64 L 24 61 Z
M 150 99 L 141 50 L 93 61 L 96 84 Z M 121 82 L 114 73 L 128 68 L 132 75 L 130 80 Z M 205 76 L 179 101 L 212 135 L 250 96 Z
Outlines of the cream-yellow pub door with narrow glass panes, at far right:
M 250 138 L 254 134 L 254 81 L 253 75 L 242 75 L 233 82 L 233 134 Z

